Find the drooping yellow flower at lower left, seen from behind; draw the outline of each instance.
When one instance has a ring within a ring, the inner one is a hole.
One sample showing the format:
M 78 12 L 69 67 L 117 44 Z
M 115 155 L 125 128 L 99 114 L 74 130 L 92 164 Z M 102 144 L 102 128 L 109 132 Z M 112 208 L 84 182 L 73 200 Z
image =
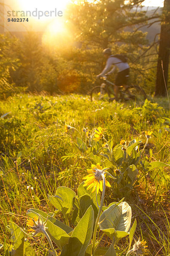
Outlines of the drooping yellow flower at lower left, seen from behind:
M 40 236 L 43 233 L 43 230 L 45 230 L 45 224 L 46 221 L 43 223 L 43 221 L 40 221 L 40 216 L 34 216 L 33 218 L 28 218 L 27 220 L 27 226 L 29 227 L 29 232 L 34 232 L 33 236 Z

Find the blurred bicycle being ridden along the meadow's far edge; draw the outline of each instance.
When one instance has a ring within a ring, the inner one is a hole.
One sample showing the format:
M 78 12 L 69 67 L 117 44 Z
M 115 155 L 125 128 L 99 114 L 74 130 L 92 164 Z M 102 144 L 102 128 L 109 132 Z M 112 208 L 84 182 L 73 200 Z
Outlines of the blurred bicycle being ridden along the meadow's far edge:
M 104 81 L 99 86 L 95 86 L 91 90 L 91 101 L 98 101 L 98 100 L 109 100 L 110 102 L 115 99 L 114 95 L 114 83 L 107 80 L 106 76 L 101 77 Z M 126 87 L 120 86 L 119 87 L 119 98 L 116 100 L 130 100 L 130 99 L 147 99 L 147 95 L 142 87 L 138 85 L 127 85 Z

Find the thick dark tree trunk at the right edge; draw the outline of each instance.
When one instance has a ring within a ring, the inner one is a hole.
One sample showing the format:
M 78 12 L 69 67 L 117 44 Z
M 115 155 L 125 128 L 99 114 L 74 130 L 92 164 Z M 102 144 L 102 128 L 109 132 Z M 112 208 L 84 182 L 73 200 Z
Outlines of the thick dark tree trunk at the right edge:
M 168 66 L 170 57 L 170 0 L 164 0 L 163 12 L 164 17 L 161 24 L 155 96 L 166 96 Z M 162 64 L 164 74 L 162 71 Z

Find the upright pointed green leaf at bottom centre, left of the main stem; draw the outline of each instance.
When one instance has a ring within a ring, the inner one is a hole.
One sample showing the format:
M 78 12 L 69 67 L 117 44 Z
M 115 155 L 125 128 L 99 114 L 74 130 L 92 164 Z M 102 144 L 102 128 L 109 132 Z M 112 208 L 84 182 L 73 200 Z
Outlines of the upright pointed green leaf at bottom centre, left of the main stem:
M 91 241 L 94 224 L 94 211 L 90 206 L 75 227 L 68 244 L 63 247 L 61 256 L 84 256 Z

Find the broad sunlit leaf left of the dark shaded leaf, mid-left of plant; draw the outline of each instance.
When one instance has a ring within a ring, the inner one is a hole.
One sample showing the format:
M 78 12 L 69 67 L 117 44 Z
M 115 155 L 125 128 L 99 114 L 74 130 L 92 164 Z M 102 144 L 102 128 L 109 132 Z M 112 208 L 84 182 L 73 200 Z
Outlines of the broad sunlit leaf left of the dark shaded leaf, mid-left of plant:
M 73 208 L 73 199 L 76 196 L 76 193 L 65 186 L 60 186 L 57 188 L 55 196 L 49 196 L 48 198 L 57 210 L 63 212 L 63 214 L 68 214 Z

